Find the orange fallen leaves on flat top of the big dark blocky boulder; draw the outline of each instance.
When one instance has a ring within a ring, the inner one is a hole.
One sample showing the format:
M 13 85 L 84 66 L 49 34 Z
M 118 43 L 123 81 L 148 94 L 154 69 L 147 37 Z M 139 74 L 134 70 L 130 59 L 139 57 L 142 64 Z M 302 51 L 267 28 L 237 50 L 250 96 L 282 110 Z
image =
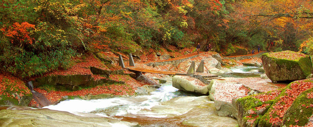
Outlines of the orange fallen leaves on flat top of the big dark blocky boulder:
M 282 51 L 282 52 L 269 53 L 268 56 L 279 58 L 279 59 L 287 59 L 287 60 L 295 61 L 295 60 L 299 60 L 301 57 L 305 57 L 306 55 L 300 52 Z

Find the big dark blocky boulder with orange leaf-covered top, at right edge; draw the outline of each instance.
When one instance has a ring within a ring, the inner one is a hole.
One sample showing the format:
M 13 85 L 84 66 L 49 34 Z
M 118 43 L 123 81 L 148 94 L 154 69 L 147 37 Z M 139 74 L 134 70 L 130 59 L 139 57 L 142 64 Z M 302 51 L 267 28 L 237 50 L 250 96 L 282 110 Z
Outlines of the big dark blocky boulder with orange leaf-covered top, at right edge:
M 299 52 L 266 53 L 261 59 L 271 81 L 301 80 L 313 72 L 311 58 Z

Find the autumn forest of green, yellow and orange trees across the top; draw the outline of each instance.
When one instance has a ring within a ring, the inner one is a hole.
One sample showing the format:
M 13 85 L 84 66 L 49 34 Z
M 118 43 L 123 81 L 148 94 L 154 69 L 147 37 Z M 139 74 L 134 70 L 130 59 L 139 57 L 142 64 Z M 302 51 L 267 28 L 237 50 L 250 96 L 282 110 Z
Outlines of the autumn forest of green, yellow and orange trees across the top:
M 0 68 L 29 77 L 85 52 L 211 43 L 313 54 L 312 0 L 0 0 Z

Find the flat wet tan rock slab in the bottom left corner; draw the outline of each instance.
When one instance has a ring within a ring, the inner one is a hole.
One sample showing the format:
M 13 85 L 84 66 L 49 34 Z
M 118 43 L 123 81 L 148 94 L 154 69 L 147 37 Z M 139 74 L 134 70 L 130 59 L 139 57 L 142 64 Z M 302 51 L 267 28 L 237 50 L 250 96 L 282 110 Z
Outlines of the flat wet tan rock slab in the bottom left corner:
M 1 126 L 4 127 L 112 127 L 118 125 L 140 127 L 138 124 L 97 115 L 84 113 L 79 115 L 50 109 L 0 110 Z

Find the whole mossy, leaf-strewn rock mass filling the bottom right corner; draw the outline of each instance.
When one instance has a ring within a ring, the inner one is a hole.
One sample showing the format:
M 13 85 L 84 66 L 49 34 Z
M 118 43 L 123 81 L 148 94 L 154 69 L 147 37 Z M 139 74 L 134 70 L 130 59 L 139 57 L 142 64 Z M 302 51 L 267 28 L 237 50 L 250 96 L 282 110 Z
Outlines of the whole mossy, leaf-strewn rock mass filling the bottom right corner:
M 239 127 L 312 127 L 313 79 L 236 101 Z M 309 125 L 311 123 L 311 125 Z

